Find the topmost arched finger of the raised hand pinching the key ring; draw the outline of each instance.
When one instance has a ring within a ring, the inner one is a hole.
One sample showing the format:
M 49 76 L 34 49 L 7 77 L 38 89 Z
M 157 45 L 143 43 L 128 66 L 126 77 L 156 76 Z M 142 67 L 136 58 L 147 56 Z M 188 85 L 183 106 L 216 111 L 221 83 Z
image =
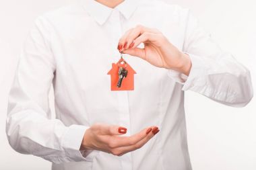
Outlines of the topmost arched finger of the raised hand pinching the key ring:
M 133 30 L 131 30 L 131 32 L 127 35 L 125 40 L 125 43 L 127 43 L 127 45 L 124 46 L 123 50 L 133 47 L 135 45 L 135 42 L 133 40 L 135 40 L 137 37 L 139 37 L 141 34 L 145 32 L 154 33 L 154 34 L 160 33 L 155 28 L 147 28 L 145 26 L 138 25 Z

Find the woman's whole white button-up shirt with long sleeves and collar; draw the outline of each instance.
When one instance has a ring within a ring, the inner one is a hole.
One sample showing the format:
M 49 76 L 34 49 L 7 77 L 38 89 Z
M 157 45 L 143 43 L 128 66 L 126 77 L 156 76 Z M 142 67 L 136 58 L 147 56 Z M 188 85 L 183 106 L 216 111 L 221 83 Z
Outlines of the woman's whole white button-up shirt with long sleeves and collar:
M 53 162 L 53 169 L 191 169 L 184 91 L 235 107 L 253 96 L 249 71 L 197 23 L 188 9 L 156 0 L 125 0 L 115 8 L 82 0 L 40 15 L 9 94 L 9 143 L 15 151 Z M 110 90 L 107 73 L 120 58 L 119 38 L 138 24 L 157 28 L 189 54 L 189 76 L 124 54 L 137 73 L 134 90 Z M 49 109 L 52 83 L 56 118 Z M 121 157 L 79 151 L 86 129 L 96 122 L 125 126 L 127 136 L 147 126 L 160 132 Z

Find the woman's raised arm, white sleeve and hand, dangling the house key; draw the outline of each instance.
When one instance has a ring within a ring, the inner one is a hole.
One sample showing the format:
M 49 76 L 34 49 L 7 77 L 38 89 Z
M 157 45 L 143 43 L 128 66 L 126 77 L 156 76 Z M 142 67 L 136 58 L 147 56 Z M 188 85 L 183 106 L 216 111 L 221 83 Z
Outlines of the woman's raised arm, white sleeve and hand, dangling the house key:
M 187 11 L 183 50 L 178 50 L 154 28 L 137 26 L 119 40 L 120 52 L 138 56 L 183 84 L 183 90 L 201 93 L 214 101 L 243 107 L 253 97 L 251 76 L 232 54 L 222 50 Z M 144 43 L 144 48 L 137 48 Z M 124 47 L 125 46 L 125 47 Z

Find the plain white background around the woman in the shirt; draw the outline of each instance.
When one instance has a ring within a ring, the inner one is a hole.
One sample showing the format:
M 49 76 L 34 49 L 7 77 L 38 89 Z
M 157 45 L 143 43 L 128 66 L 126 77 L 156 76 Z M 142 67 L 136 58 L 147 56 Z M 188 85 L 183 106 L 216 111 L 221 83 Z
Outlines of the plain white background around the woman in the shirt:
M 251 70 L 256 89 L 255 1 L 166 1 L 189 7 L 212 38 Z M 48 161 L 32 155 L 21 155 L 9 146 L 5 135 L 7 94 L 22 44 L 35 17 L 71 2 L 72 0 L 0 0 L 0 169 L 51 169 Z M 54 110 L 52 91 L 50 98 L 51 108 Z M 187 91 L 185 108 L 193 169 L 256 169 L 255 98 L 245 108 L 231 108 Z

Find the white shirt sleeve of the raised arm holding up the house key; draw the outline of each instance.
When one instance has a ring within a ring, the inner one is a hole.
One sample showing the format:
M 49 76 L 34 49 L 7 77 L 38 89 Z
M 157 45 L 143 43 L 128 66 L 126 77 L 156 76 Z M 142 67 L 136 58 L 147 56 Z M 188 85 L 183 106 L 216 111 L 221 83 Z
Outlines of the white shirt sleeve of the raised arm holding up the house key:
M 182 84 L 184 91 L 195 91 L 233 107 L 247 105 L 253 97 L 249 70 L 222 50 L 189 10 L 186 24 L 183 52 L 191 58 L 191 71 L 187 76 L 168 70 L 168 76 Z

